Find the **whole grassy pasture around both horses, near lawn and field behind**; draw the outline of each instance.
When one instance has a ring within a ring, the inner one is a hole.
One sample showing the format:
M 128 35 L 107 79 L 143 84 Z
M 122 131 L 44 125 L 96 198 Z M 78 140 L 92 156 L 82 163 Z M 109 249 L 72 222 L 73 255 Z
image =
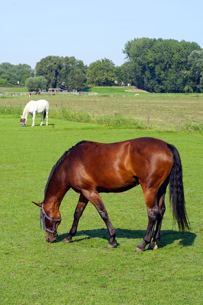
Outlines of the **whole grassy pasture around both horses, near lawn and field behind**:
M 27 97 L 0 99 L 0 304 L 202 304 L 203 136 L 176 132 L 179 119 L 202 124 L 202 96 L 114 95 L 43 95 L 50 103 L 50 114 L 49 126 L 41 127 L 40 116 L 35 127 L 30 116 L 26 127 L 20 127 Z M 145 124 L 144 110 L 149 105 L 156 107 L 149 130 L 127 127 L 125 122 L 116 127 L 98 124 L 95 119 L 119 113 L 121 118 L 133 117 Z M 139 106 L 143 112 L 139 113 Z M 75 121 L 60 118 L 67 109 L 75 113 Z M 89 123 L 82 120 L 84 114 L 91 116 Z M 191 230 L 179 232 L 173 225 L 167 192 L 159 248 L 135 252 L 148 222 L 137 186 L 123 193 L 101 194 L 117 231 L 118 248 L 106 248 L 109 235 L 91 203 L 74 242 L 61 243 L 71 228 L 79 197 L 68 191 L 60 208 L 59 243 L 45 242 L 45 231 L 39 229 L 40 209 L 32 201 L 43 200 L 49 173 L 59 157 L 84 139 L 115 142 L 139 136 L 157 137 L 178 149 Z

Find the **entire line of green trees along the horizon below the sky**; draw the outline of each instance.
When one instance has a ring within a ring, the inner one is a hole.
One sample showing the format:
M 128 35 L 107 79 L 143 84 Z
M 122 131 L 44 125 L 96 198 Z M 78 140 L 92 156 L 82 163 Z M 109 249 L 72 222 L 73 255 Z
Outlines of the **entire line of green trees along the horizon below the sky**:
M 130 83 L 149 92 L 203 92 L 203 49 L 196 42 L 135 38 L 123 50 L 125 62 L 115 66 L 102 58 L 85 65 L 75 57 L 48 56 L 36 63 L 0 64 L 0 85 L 25 85 L 29 91 L 58 88 L 82 91 L 87 85 Z

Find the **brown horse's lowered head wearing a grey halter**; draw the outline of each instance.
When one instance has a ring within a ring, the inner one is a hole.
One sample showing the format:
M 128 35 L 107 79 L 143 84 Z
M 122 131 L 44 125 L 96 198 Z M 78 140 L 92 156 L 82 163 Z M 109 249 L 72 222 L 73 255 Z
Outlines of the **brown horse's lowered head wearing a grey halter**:
M 33 203 L 41 208 L 40 211 L 40 229 L 42 229 L 41 221 L 43 225 L 43 229 L 46 230 L 46 241 L 48 243 L 55 243 L 57 234 L 58 225 L 61 223 L 61 215 L 59 210 L 50 211 L 44 210 L 44 203 L 34 202 Z

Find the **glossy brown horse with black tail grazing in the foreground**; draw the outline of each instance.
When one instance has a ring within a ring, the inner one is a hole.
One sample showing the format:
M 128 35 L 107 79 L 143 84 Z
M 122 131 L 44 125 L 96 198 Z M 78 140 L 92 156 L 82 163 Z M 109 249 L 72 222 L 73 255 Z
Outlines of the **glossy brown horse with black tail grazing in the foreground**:
M 82 141 L 57 161 L 47 181 L 43 202 L 34 202 L 41 207 L 40 217 L 46 230 L 46 240 L 51 243 L 56 241 L 56 230 L 61 222 L 59 207 L 66 192 L 72 188 L 80 194 L 80 198 L 72 228 L 63 241 L 72 242 L 79 219 L 90 201 L 109 231 L 108 247 L 117 247 L 116 231 L 99 193 L 127 191 L 138 184 L 143 190 L 149 223 L 142 243 L 136 247 L 137 251 L 144 251 L 148 244 L 150 249 L 157 248 L 168 184 L 174 220 L 179 229 L 189 229 L 182 165 L 173 145 L 151 137 L 109 144 Z

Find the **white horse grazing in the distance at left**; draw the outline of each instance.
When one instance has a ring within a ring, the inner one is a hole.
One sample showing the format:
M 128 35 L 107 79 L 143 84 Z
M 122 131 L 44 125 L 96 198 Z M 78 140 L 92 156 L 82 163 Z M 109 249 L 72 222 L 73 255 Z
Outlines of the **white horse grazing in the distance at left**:
M 23 126 L 25 126 L 25 124 L 27 123 L 28 114 L 30 113 L 33 119 L 32 126 L 34 126 L 34 119 L 36 114 L 41 114 L 42 120 L 40 126 L 42 126 L 45 116 L 47 117 L 46 125 L 48 125 L 49 107 L 50 105 L 48 101 L 45 99 L 39 99 L 37 101 L 31 100 L 25 106 L 23 110 L 23 114 L 20 115 L 21 116 L 20 123 L 23 123 L 24 124 Z

